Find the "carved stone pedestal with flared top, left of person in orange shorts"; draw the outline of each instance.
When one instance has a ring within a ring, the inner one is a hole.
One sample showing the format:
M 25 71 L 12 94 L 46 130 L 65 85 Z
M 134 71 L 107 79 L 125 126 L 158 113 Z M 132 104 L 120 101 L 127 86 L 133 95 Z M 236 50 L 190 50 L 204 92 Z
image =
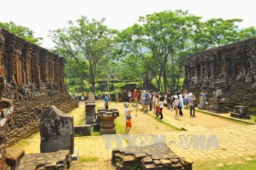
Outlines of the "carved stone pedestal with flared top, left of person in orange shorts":
M 114 120 L 119 116 L 117 110 L 104 110 L 99 111 L 98 116 L 100 117 L 100 134 L 116 134 Z

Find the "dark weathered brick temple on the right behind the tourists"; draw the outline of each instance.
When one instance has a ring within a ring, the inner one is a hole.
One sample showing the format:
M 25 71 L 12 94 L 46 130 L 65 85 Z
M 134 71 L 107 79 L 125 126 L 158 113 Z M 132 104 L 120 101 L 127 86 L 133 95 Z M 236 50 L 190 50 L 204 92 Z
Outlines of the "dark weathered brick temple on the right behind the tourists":
M 256 108 L 256 38 L 190 56 L 185 63 L 184 89 L 212 97 L 219 87 L 228 107 Z M 250 109 L 249 109 L 250 110 Z

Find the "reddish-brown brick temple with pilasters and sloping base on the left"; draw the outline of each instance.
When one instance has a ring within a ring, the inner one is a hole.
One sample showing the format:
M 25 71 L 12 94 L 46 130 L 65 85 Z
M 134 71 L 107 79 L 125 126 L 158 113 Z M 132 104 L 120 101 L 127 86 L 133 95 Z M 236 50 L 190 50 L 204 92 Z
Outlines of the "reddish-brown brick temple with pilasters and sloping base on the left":
M 62 57 L 0 29 L 0 66 L 6 79 L 1 93 L 14 103 L 7 146 L 38 131 L 40 114 L 51 105 L 64 112 L 75 107 L 64 83 Z

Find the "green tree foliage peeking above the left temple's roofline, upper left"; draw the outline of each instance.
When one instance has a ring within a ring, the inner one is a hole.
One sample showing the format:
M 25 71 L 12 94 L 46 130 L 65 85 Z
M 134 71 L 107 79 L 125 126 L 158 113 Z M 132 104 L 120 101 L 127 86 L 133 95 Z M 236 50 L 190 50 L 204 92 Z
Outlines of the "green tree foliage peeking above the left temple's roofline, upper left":
M 27 27 L 17 26 L 13 21 L 0 22 L 0 27 L 13 33 L 14 35 L 25 39 L 26 41 L 32 42 L 36 45 L 41 44 L 42 37 L 34 37 L 34 32 Z

